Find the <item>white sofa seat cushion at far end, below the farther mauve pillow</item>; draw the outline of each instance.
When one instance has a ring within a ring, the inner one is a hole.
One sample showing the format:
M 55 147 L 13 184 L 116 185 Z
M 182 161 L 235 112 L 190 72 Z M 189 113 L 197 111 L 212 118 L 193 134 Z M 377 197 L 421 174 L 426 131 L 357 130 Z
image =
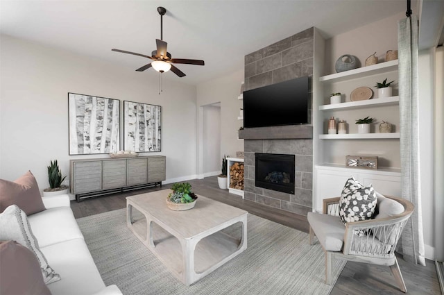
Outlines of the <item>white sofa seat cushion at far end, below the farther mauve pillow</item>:
M 39 241 L 40 248 L 69 239 L 83 239 L 82 232 L 69 207 L 46 209 L 32 214 L 28 217 L 28 221 L 33 228 L 33 234 Z

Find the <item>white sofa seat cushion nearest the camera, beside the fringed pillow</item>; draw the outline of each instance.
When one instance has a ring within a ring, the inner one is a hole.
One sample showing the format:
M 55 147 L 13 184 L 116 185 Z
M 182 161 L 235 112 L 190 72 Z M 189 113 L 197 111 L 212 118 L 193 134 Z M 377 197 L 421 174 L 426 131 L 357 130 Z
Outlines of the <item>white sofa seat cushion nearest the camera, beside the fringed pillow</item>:
M 94 294 L 105 288 L 83 239 L 42 247 L 42 252 L 62 276 L 62 280 L 48 285 L 52 294 Z

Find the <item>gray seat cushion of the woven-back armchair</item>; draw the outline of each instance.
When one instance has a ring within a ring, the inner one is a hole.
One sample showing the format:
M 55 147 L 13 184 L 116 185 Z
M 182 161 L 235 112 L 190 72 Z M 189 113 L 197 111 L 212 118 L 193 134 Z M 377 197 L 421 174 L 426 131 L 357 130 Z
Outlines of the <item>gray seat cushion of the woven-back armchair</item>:
M 337 216 L 308 212 L 307 219 L 326 251 L 339 252 L 342 250 L 345 226 Z

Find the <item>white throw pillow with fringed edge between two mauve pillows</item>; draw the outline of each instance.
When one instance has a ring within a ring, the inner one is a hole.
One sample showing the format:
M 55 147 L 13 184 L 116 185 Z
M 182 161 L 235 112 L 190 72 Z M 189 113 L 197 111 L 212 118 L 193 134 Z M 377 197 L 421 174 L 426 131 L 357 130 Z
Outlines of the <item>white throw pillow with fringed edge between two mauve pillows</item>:
M 0 214 L 0 240 L 13 240 L 31 250 L 40 264 L 46 285 L 60 280 L 60 275 L 48 265 L 46 258 L 40 251 L 26 213 L 17 205 L 10 205 Z

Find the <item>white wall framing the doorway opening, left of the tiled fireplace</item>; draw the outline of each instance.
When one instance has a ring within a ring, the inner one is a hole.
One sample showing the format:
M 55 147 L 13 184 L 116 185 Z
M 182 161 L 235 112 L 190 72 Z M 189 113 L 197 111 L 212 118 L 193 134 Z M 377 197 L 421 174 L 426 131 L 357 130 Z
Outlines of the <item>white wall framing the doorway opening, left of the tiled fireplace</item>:
M 244 65 L 239 70 L 221 78 L 216 78 L 197 86 L 197 106 L 221 103 L 221 155 L 235 156 L 236 151 L 244 151 L 244 140 L 237 139 L 239 127 L 244 126 L 239 121 L 239 109 L 242 101 L 237 99 L 240 94 L 241 82 L 244 81 Z M 199 108 L 202 112 L 202 108 Z M 198 174 L 203 177 L 203 114 L 198 114 Z

